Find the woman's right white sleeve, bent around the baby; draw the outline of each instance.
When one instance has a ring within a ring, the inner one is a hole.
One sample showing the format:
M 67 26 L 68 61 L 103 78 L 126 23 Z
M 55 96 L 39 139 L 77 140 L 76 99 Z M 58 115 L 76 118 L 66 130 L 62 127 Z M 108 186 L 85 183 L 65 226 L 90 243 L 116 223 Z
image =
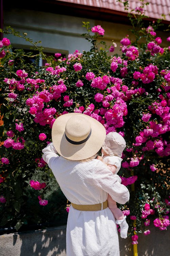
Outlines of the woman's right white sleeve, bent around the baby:
M 104 163 L 97 163 L 94 173 L 93 182 L 95 185 L 106 191 L 113 200 L 120 204 L 125 204 L 129 201 L 129 190 L 123 184 L 120 184 L 115 175 L 105 167 Z

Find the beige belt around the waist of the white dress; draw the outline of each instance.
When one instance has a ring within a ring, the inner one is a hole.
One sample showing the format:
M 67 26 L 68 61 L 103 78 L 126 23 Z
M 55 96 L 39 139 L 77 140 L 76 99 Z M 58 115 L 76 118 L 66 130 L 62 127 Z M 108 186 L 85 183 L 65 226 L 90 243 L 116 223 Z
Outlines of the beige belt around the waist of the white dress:
M 107 208 L 107 200 L 97 204 L 75 204 L 71 203 L 72 207 L 79 211 L 101 211 Z

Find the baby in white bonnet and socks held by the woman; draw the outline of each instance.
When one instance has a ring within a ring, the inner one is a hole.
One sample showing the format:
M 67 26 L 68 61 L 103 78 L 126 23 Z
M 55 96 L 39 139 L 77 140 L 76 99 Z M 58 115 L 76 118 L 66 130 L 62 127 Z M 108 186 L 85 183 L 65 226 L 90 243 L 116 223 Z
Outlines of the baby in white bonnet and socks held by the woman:
M 117 175 L 121 167 L 122 152 L 126 147 L 126 142 L 123 137 L 117 132 L 109 132 L 106 135 L 106 139 L 102 146 L 102 156 L 97 158 L 104 163 L 111 172 L 115 175 L 116 179 L 121 183 L 120 177 Z M 126 222 L 126 216 L 117 207 L 116 202 L 111 198 L 110 195 L 107 197 L 108 208 L 111 210 L 116 218 L 116 223 L 120 226 L 121 238 L 126 238 L 128 233 L 128 223 Z

